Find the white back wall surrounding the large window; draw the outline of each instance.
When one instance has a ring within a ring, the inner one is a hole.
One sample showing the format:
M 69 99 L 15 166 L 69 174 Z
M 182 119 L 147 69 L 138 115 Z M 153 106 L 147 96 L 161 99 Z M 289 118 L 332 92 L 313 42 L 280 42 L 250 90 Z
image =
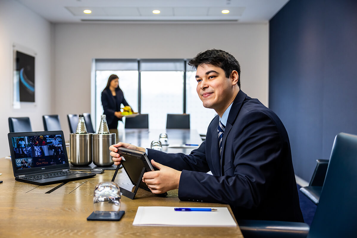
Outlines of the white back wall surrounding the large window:
M 93 58 L 192 58 L 207 49 L 241 64 L 242 90 L 268 105 L 268 24 L 56 24 L 55 112 L 69 135 L 68 113 L 91 110 Z

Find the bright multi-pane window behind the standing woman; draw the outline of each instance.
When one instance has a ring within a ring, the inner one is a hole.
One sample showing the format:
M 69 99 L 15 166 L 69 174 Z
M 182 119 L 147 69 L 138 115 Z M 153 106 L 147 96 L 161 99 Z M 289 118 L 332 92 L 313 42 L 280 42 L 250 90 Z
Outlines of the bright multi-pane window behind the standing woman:
M 101 92 L 111 74 L 119 76 L 119 87 L 123 90 L 126 101 L 135 112 L 138 111 L 137 63 L 137 60 L 96 60 L 95 118 L 92 117 L 96 128 L 99 128 L 100 115 L 103 113 Z M 141 113 L 149 114 L 149 128 L 164 129 L 168 113 L 183 113 L 185 63 L 187 62 L 184 60 L 140 60 Z M 186 113 L 190 114 L 190 128 L 200 134 L 206 134 L 209 123 L 217 113 L 213 109 L 203 107 L 196 92 L 195 75 L 196 70 L 186 65 Z M 124 123 L 119 122 L 118 129 L 124 129 Z

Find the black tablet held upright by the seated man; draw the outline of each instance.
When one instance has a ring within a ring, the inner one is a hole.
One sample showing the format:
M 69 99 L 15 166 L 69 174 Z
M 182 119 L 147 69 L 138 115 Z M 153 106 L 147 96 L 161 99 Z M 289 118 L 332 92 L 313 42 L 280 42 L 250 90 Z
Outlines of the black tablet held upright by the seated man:
M 143 167 L 145 167 L 145 172 L 155 170 L 145 152 L 130 150 L 124 147 L 119 147 L 117 149 L 117 153 L 120 153 L 122 157 L 121 164 L 131 183 L 135 186 L 137 186 L 137 181 Z M 149 187 L 147 187 L 146 183 L 142 182 L 142 180 L 139 184 L 139 188 L 151 192 Z

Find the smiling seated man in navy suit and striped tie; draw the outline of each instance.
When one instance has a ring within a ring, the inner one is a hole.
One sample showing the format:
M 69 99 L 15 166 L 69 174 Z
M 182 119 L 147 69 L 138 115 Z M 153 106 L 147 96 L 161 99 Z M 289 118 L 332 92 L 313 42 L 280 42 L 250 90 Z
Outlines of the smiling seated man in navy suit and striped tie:
M 120 142 L 110 147 L 115 164 L 121 160 L 117 147 L 147 151 L 159 169 L 143 177 L 153 193 L 178 189 L 181 200 L 229 204 L 236 219 L 303 222 L 290 143 L 280 119 L 240 90 L 240 65 L 232 55 L 207 50 L 189 64 L 197 69 L 203 106 L 218 114 L 206 140 L 190 155 Z

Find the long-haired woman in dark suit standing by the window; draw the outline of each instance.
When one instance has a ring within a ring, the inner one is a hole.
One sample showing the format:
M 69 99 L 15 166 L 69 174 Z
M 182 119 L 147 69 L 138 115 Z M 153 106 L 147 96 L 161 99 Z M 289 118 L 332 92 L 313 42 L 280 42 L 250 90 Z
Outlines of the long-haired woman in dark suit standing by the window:
M 121 104 L 129 106 L 124 98 L 124 93 L 119 87 L 119 77 L 115 74 L 109 76 L 107 86 L 102 91 L 103 114 L 110 133 L 116 133 L 118 138 L 118 121 L 122 121 L 123 116 L 120 113 Z

